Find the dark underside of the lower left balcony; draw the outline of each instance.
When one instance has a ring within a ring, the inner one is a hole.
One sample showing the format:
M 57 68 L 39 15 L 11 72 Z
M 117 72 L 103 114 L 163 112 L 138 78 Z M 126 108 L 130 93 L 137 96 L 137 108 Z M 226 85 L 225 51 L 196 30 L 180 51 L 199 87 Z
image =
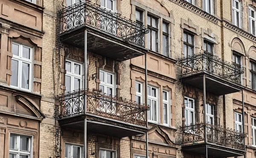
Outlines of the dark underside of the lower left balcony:
M 147 128 L 131 125 L 122 121 L 113 121 L 93 115 L 76 115 L 59 120 L 61 127 L 84 130 L 84 118 L 87 118 L 87 132 L 109 135 L 118 138 L 145 134 Z

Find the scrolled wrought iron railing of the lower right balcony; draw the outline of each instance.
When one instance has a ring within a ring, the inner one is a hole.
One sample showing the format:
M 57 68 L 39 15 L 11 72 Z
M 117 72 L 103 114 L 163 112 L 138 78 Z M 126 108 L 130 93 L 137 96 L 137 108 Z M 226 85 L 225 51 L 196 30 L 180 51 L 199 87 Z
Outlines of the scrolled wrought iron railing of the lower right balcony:
M 244 150 L 243 139 L 246 134 L 243 132 L 208 123 L 191 124 L 180 128 L 183 132 L 183 146 L 200 144 L 206 141 L 207 143 Z M 204 131 L 206 131 L 206 138 Z

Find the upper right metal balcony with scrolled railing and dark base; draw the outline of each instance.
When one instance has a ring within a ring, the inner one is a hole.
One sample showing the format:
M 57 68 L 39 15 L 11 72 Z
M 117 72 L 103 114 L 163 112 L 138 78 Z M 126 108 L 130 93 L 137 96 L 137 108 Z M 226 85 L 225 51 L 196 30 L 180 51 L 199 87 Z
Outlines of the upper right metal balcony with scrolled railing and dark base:
M 203 75 L 206 75 L 206 90 L 216 95 L 241 91 L 241 67 L 221 60 L 217 56 L 201 53 L 179 59 L 180 79 L 183 83 L 203 89 Z

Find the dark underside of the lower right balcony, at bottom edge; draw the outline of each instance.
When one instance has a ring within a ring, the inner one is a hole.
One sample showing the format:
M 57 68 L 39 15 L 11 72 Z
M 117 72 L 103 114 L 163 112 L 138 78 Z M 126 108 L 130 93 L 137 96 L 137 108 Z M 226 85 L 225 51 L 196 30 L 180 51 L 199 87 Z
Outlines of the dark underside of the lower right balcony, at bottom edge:
M 182 151 L 187 152 L 189 154 L 206 155 L 206 145 L 207 145 L 208 157 L 228 158 L 228 157 L 243 156 L 245 154 L 245 152 L 241 150 L 236 150 L 236 149 L 227 148 L 227 147 L 218 146 L 218 145 L 209 144 L 209 143 L 186 145 L 182 147 Z

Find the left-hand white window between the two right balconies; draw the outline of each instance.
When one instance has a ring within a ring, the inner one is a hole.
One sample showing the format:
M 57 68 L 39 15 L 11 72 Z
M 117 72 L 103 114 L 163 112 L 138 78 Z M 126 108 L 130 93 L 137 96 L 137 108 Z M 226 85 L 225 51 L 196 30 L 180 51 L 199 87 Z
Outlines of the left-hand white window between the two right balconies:
M 184 98 L 185 125 L 195 124 L 195 100 L 189 97 Z

